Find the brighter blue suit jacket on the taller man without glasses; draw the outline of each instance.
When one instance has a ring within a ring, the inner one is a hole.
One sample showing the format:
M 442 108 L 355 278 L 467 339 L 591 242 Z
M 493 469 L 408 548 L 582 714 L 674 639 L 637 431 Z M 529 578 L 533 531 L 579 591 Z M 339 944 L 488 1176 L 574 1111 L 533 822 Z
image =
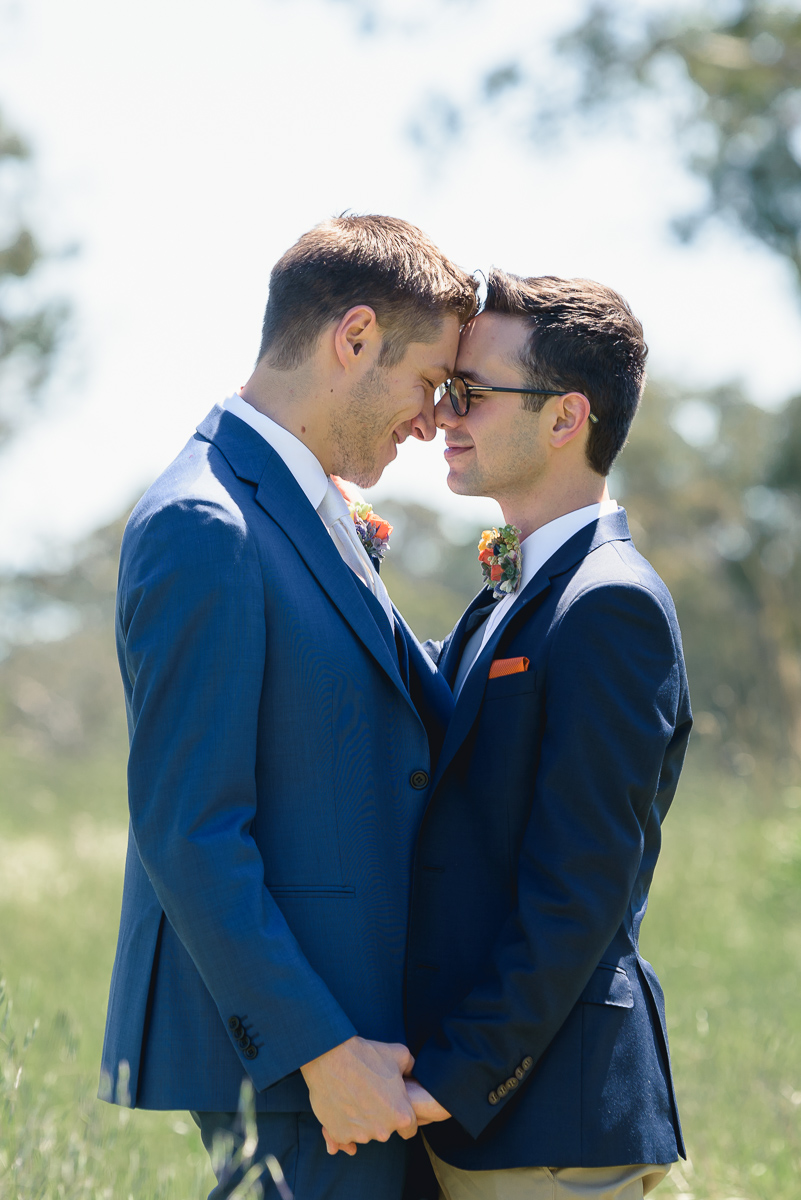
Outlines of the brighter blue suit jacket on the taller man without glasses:
M 230 1111 L 249 1076 L 257 1108 L 308 1109 L 302 1063 L 404 1039 L 426 726 L 436 749 L 452 697 L 397 619 L 396 646 L 281 457 L 219 408 L 134 509 L 106 1098 Z

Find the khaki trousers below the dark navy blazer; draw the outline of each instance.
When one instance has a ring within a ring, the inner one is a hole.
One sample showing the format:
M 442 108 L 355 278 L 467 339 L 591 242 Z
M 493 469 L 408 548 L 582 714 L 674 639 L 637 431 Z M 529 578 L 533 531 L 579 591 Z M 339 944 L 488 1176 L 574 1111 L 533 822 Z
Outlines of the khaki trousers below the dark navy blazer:
M 439 1200 L 642 1200 L 661 1183 L 667 1166 L 516 1166 L 463 1171 L 426 1144 Z

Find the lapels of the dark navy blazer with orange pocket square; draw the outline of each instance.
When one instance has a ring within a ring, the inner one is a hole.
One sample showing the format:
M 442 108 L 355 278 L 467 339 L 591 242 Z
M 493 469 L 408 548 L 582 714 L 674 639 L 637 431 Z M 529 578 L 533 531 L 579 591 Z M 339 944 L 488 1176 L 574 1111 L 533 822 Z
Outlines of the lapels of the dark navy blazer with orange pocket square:
M 550 588 L 552 580 L 556 578 L 556 576 L 570 571 L 594 550 L 604 545 L 604 542 L 628 540 L 631 540 L 628 522 L 626 520 L 625 511 L 621 509 L 606 517 L 600 517 L 591 524 L 579 529 L 578 533 L 573 534 L 573 536 L 565 542 L 564 546 L 559 547 L 556 553 L 553 554 L 548 562 L 540 568 L 534 578 L 529 581 L 520 593 L 517 604 L 512 605 L 506 617 L 499 623 L 498 628 L 493 630 L 487 644 L 468 672 L 468 676 L 462 685 L 462 691 L 456 701 L 451 725 L 445 736 L 445 744 L 439 760 L 436 779 L 434 781 L 435 784 L 439 782 L 442 773 L 453 760 L 456 751 L 459 749 L 472 728 L 474 721 L 478 715 L 478 709 L 481 708 L 489 667 L 495 656 L 495 649 L 510 626 L 520 624 L 524 619 L 530 618 L 531 606 L 542 602 L 542 599 Z M 481 595 L 476 596 L 464 616 L 460 618 L 453 631 L 453 638 L 447 647 L 446 655 L 444 655 L 444 658 L 447 658 L 448 660 L 446 671 L 446 678 L 448 682 L 452 682 L 452 677 L 456 674 L 458 668 L 459 659 L 462 656 L 460 650 L 466 636 L 470 616 L 478 608 L 477 601 L 480 599 L 482 599 Z

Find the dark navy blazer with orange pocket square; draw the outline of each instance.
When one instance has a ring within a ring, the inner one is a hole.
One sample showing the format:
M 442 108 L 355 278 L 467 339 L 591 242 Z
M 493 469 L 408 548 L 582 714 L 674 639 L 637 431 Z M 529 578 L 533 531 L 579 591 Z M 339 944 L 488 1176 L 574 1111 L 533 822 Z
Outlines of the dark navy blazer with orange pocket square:
M 445 643 L 452 682 L 474 600 Z M 526 671 L 488 678 L 493 660 Z M 625 512 L 570 539 L 469 672 L 414 865 L 415 1074 L 470 1170 L 683 1153 L 638 932 L 692 724 L 675 610 Z

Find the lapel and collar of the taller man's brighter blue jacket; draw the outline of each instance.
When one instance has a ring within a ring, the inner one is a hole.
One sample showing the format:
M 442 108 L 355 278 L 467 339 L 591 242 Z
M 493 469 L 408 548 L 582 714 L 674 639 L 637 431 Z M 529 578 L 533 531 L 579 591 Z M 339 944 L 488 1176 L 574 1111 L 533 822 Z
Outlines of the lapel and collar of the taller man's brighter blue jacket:
M 239 479 L 255 485 L 257 504 L 282 529 L 295 553 L 414 708 L 401 678 L 397 658 L 381 636 L 377 618 L 361 594 L 365 589 L 343 562 L 331 535 L 281 455 L 249 425 L 219 407 L 215 407 L 198 426 L 198 433 L 224 455 Z

